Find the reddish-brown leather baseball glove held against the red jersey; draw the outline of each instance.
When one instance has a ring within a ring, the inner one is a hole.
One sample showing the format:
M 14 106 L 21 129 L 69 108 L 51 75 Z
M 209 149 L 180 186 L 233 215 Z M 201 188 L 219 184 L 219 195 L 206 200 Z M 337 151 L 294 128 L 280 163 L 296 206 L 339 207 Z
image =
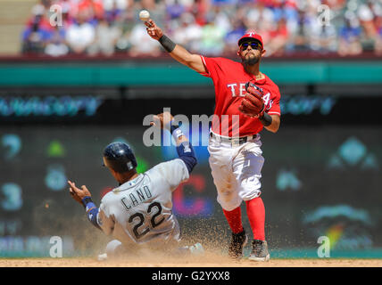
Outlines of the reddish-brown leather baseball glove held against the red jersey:
M 251 82 L 247 82 L 245 84 L 245 90 L 245 97 L 243 98 L 241 105 L 238 107 L 238 110 L 252 118 L 262 117 L 265 110 L 265 104 L 262 100 L 262 88 Z

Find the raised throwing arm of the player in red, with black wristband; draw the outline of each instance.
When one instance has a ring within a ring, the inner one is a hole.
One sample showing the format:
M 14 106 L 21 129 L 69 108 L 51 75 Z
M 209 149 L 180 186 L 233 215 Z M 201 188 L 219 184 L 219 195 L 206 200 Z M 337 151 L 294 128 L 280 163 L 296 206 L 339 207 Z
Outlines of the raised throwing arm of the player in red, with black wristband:
M 190 69 L 194 69 L 196 72 L 205 73 L 207 71 L 199 54 L 189 53 L 183 46 L 173 43 L 169 37 L 163 34 L 162 29 L 155 24 L 154 20 L 145 21 L 145 26 L 147 27 L 147 34 L 159 41 L 174 60 Z

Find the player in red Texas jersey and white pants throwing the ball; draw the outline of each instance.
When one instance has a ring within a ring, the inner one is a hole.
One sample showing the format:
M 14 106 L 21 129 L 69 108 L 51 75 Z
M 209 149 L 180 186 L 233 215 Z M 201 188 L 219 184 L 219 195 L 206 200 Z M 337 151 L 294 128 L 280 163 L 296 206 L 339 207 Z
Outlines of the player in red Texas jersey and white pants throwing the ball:
M 249 259 L 268 261 L 265 208 L 260 197 L 264 159 L 259 132 L 263 127 L 272 133 L 278 131 L 280 94 L 278 86 L 259 69 L 266 53 L 262 37 L 254 32 L 241 37 L 237 48 L 241 62 L 237 62 L 188 53 L 163 35 L 153 20 L 145 21 L 145 25 L 148 35 L 158 40 L 172 58 L 212 78 L 216 106 L 208 151 L 217 200 L 232 231 L 228 255 L 240 259 L 248 240 L 240 208 L 244 200 L 253 232 Z

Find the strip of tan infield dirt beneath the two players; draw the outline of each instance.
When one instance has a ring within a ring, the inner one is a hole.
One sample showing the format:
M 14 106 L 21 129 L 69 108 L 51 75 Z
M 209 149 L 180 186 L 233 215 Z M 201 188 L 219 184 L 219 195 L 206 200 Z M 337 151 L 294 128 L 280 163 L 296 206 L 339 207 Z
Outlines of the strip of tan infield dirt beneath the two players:
M 0 258 L 0 267 L 382 267 L 382 259 L 271 259 L 266 263 L 243 259 L 232 262 L 226 257 L 207 255 L 187 261 L 151 257 L 98 261 L 91 257 L 71 258 Z

